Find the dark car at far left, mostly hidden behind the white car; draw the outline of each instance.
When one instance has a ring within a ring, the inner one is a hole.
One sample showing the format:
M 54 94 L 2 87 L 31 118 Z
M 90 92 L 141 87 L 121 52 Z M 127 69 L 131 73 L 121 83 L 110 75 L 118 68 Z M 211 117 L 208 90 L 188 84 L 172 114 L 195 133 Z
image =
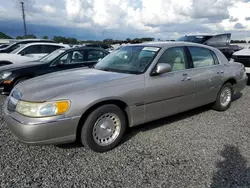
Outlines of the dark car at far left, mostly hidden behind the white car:
M 29 44 L 29 43 L 37 43 L 37 42 L 49 42 L 49 43 L 55 43 L 52 40 L 46 40 L 46 39 L 26 39 L 26 40 L 18 40 L 16 42 L 10 43 L 8 46 L 4 48 L 0 48 L 0 53 L 10 53 L 14 51 L 15 49 L 19 48 L 21 45 Z

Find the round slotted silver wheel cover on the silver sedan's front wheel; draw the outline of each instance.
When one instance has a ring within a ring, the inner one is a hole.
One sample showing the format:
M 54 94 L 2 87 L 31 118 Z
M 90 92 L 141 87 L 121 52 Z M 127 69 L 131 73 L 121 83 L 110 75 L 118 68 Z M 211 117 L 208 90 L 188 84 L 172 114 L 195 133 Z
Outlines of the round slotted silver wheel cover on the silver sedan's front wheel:
M 121 120 L 114 113 L 106 113 L 99 117 L 93 127 L 94 141 L 100 146 L 113 143 L 121 131 Z

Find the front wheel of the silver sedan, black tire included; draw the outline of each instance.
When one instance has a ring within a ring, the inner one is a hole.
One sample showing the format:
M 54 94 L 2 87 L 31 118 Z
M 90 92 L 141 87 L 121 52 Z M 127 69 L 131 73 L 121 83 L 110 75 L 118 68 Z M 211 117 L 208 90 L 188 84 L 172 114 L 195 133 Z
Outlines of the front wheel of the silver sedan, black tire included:
M 116 147 L 125 133 L 127 119 L 116 105 L 103 105 L 92 111 L 81 129 L 81 142 L 86 149 L 106 152 Z

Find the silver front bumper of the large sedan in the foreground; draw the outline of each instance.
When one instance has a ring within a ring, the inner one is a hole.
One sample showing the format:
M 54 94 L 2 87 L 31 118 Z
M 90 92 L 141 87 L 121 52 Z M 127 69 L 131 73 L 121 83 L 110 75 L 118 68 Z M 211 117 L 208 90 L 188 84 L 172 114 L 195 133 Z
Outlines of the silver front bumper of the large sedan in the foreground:
M 4 104 L 4 119 L 14 137 L 26 144 L 63 144 L 76 140 L 80 117 L 29 118 L 17 112 L 9 113 L 7 100 Z

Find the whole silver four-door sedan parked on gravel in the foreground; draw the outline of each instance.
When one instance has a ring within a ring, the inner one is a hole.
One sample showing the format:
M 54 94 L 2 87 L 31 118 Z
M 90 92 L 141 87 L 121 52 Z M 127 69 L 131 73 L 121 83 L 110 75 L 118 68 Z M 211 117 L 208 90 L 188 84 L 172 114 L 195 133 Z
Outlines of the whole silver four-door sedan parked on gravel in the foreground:
M 97 152 L 126 128 L 213 104 L 227 110 L 247 76 L 217 49 L 185 42 L 128 45 L 94 69 L 48 74 L 17 85 L 4 104 L 13 135 L 27 144 L 80 138 Z

